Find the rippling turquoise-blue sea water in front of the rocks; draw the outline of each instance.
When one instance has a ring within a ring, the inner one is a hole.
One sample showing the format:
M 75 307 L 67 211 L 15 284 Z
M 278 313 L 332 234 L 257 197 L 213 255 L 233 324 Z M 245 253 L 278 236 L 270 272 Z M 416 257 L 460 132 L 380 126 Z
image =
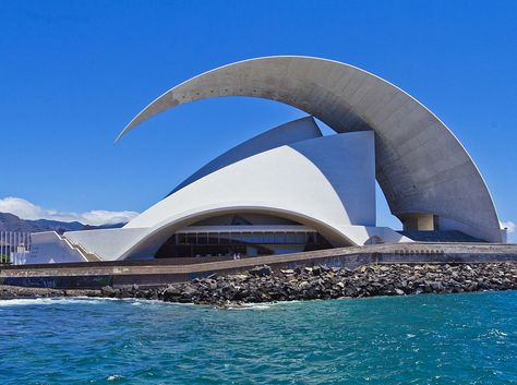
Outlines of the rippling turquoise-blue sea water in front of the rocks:
M 517 384 L 517 291 L 254 305 L 0 301 L 1 384 Z

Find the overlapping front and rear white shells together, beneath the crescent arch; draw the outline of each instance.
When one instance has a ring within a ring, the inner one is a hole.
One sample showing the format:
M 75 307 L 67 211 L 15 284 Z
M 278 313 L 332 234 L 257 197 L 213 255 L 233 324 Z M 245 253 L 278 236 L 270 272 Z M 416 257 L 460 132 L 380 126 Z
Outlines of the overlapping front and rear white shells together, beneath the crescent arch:
M 141 258 L 201 219 L 261 213 L 317 230 L 335 246 L 372 237 L 408 242 L 375 227 L 374 153 L 373 131 L 321 136 L 312 118 L 299 119 L 223 154 L 123 228 L 64 237 L 104 261 Z

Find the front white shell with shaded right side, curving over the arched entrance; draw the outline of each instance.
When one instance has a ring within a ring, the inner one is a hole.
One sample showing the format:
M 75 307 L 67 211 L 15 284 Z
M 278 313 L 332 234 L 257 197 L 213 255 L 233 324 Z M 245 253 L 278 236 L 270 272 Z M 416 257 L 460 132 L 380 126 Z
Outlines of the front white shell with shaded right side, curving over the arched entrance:
M 341 164 L 342 154 L 348 154 Z M 335 245 L 357 244 L 341 226 L 375 226 L 373 132 L 336 134 L 273 148 L 201 178 L 124 226 L 147 228 L 123 257 L 154 254 L 173 233 L 217 213 L 285 216 Z

